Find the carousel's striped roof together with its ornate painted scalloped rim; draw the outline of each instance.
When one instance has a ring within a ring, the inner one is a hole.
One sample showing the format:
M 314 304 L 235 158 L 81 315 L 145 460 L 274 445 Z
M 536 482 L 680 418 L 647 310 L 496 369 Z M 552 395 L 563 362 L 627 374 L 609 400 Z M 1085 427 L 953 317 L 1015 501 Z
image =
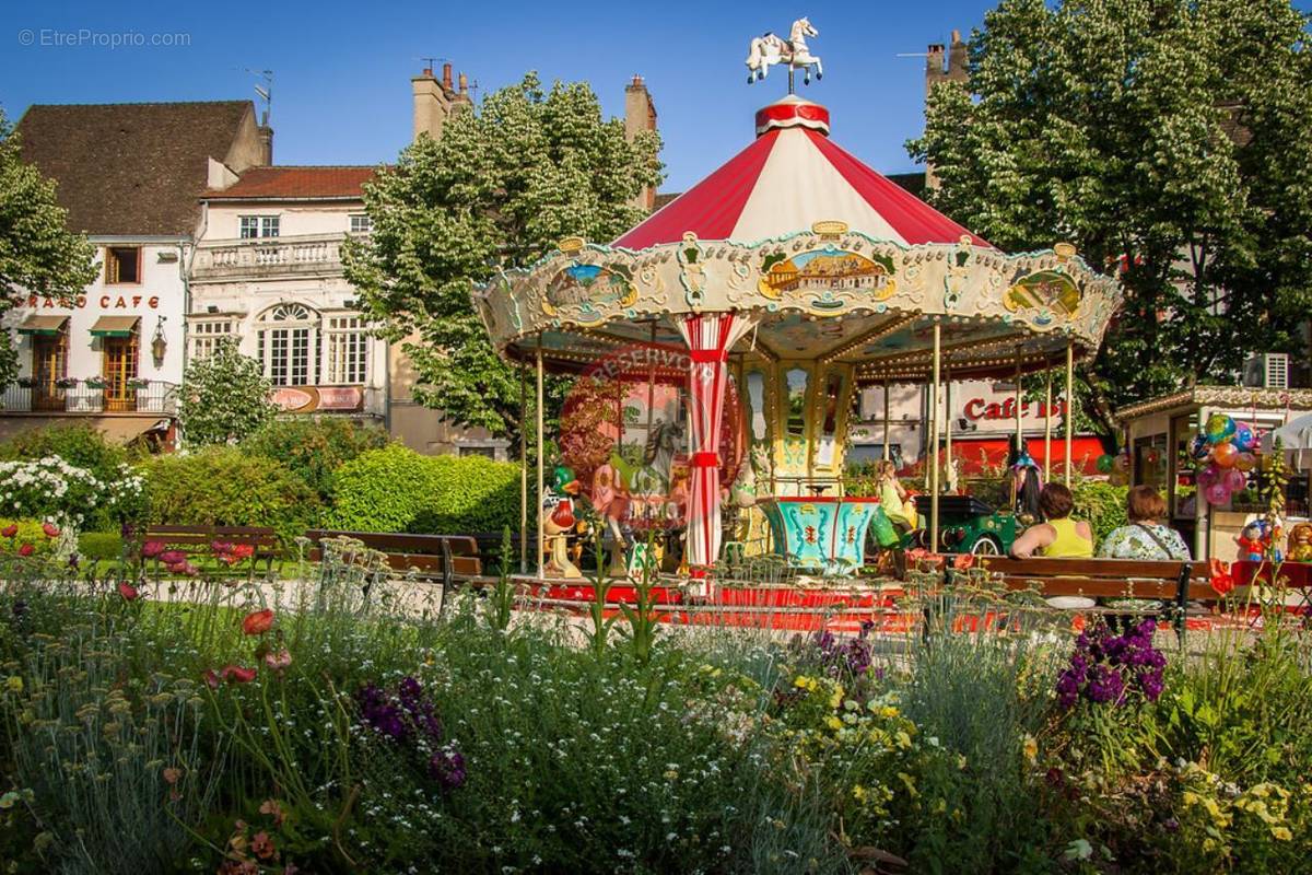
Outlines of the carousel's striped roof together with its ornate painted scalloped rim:
M 1119 300 L 1073 247 L 1006 256 L 828 136 L 829 112 L 789 96 L 756 139 L 610 245 L 563 240 L 474 294 L 506 357 L 542 349 L 581 371 L 626 346 L 686 348 L 689 317 L 736 314 L 729 356 L 921 382 L 933 328 L 951 379 L 1040 370 L 1097 349 Z

